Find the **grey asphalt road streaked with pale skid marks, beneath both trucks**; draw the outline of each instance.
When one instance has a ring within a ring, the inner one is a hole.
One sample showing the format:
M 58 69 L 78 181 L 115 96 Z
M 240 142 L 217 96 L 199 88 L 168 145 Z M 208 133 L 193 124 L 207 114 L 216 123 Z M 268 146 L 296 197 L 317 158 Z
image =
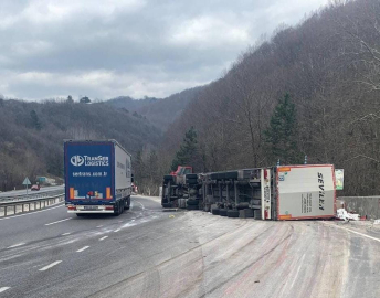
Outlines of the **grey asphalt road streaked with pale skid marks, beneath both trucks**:
M 0 297 L 380 297 L 380 234 L 334 222 L 64 206 L 0 219 Z

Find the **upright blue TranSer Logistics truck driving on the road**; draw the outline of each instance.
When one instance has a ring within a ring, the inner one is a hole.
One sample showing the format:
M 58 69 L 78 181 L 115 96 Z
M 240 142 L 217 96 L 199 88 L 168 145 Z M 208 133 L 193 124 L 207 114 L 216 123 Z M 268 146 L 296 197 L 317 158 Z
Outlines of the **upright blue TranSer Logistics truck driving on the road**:
M 130 155 L 116 140 L 65 140 L 65 205 L 77 216 L 130 206 Z

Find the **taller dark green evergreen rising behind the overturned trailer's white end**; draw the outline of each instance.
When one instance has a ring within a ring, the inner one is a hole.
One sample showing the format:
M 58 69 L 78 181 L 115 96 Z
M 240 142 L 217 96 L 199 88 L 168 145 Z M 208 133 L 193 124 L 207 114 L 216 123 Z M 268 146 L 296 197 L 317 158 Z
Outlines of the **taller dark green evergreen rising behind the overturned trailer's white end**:
M 282 164 L 302 163 L 302 153 L 297 147 L 296 107 L 288 94 L 279 99 L 264 135 L 273 162 L 279 159 Z

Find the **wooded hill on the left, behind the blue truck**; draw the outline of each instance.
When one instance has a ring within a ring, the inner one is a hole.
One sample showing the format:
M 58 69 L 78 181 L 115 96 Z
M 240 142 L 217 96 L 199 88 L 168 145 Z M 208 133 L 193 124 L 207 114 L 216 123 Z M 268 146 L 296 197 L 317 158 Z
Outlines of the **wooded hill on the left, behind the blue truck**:
M 131 153 L 156 147 L 160 130 L 106 104 L 0 99 L 0 190 L 28 175 L 63 177 L 63 139 L 116 139 Z

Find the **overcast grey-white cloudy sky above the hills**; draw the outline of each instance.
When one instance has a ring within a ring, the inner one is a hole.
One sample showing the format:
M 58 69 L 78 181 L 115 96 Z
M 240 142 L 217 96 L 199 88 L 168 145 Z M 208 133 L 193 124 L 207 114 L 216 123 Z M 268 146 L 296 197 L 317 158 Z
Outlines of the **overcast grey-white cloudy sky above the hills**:
M 166 97 L 217 79 L 262 34 L 326 2 L 0 0 L 0 94 Z

